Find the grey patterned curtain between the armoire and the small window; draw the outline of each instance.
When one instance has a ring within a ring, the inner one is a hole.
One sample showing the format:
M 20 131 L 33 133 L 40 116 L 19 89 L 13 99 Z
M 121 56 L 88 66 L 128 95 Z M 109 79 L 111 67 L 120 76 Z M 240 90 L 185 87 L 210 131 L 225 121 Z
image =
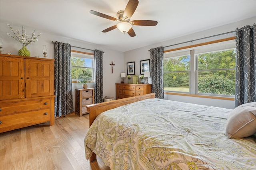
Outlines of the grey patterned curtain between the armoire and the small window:
M 54 43 L 55 117 L 74 111 L 70 58 L 71 45 L 56 41 Z

